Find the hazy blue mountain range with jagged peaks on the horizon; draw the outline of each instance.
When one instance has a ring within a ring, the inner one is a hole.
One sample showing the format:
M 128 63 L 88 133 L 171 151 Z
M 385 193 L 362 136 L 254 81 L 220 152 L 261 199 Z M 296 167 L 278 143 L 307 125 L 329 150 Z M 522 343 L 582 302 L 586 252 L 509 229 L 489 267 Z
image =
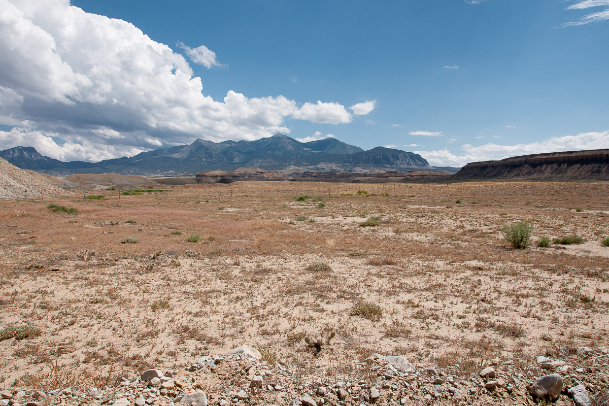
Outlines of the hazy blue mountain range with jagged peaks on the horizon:
M 364 151 L 336 138 L 300 142 L 281 133 L 256 141 L 212 142 L 196 139 L 192 144 L 161 148 L 138 155 L 104 159 L 97 163 L 62 162 L 41 155 L 33 147 L 15 147 L 0 152 L 21 169 L 66 176 L 74 173 L 120 173 L 123 175 L 188 176 L 209 170 L 258 167 L 264 170 L 449 170 L 435 168 L 420 155 L 397 149 L 376 147 Z

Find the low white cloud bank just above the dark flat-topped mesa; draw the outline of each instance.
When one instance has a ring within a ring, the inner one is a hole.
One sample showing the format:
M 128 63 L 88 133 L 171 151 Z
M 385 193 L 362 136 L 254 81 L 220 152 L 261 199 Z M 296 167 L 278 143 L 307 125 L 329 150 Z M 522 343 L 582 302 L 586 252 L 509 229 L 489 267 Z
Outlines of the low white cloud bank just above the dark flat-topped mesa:
M 463 166 L 476 161 L 490 161 L 510 156 L 529 155 L 533 153 L 576 151 L 609 148 L 609 131 L 581 133 L 554 137 L 530 144 L 498 145 L 484 144 L 474 147 L 465 144 L 461 147 L 463 155 L 453 155 L 448 149 L 432 151 L 415 151 L 435 166 Z

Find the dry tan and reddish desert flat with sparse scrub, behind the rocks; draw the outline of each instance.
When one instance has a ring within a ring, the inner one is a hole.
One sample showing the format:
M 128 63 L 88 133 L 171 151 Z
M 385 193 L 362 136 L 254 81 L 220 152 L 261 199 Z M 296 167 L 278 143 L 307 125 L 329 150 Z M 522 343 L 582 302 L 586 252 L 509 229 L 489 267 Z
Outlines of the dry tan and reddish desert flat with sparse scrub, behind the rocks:
M 609 345 L 609 183 L 167 189 L 52 202 L 76 213 L 0 203 L 0 330 L 40 331 L 0 341 L 0 387 L 52 364 L 175 369 L 241 344 L 328 376 L 379 352 L 456 377 L 495 360 L 526 380 L 538 355 Z M 521 219 L 534 236 L 515 250 L 500 230 Z M 585 243 L 534 243 L 568 235 Z

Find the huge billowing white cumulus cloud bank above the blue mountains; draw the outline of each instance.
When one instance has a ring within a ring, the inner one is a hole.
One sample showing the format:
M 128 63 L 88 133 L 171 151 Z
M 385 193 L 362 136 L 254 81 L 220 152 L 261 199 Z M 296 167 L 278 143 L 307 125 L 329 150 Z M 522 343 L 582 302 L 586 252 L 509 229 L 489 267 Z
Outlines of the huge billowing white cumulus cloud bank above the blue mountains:
M 221 66 L 206 46 L 178 46 L 193 63 Z M 0 55 L 0 124 L 18 127 L 0 131 L 0 145 L 32 145 L 57 159 L 116 158 L 199 137 L 253 140 L 289 133 L 288 119 L 353 121 L 337 102 L 234 91 L 216 101 L 183 55 L 69 0 L 0 0 Z

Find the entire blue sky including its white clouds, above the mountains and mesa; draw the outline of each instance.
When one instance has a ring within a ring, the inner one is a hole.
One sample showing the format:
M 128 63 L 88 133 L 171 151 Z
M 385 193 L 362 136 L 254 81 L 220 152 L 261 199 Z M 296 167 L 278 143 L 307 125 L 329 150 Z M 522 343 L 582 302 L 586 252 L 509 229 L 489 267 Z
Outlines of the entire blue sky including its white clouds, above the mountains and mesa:
M 437 166 L 609 148 L 609 0 L 7 1 L 2 148 L 96 161 L 281 131 Z

